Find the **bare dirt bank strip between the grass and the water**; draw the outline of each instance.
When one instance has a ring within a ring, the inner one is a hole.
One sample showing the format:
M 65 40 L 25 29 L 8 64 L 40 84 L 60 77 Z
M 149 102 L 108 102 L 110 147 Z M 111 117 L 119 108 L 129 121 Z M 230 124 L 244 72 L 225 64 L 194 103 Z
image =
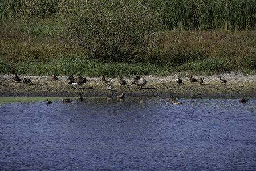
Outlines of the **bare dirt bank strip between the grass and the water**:
M 68 84 L 68 76 L 58 76 L 59 80 L 53 82 L 51 76 L 18 75 L 19 78 L 30 78 L 32 83 L 17 83 L 12 74 L 0 75 L 0 96 L 43 96 L 43 97 L 115 97 L 122 92 L 125 97 L 184 97 L 184 98 L 218 98 L 218 97 L 256 97 L 256 75 L 243 75 L 239 73 L 220 74 L 226 79 L 226 84 L 218 81 L 219 75 L 202 76 L 204 84 L 190 83 L 188 77 L 181 77 L 184 83 L 177 84 L 177 74 L 167 77 L 145 76 L 147 84 L 140 89 L 134 85 L 121 86 L 119 78 L 107 78 L 113 86 L 108 92 L 100 78 L 87 78 L 87 82 L 77 89 L 77 86 Z M 194 76 L 196 79 L 200 75 Z M 131 84 L 133 77 L 124 78 Z

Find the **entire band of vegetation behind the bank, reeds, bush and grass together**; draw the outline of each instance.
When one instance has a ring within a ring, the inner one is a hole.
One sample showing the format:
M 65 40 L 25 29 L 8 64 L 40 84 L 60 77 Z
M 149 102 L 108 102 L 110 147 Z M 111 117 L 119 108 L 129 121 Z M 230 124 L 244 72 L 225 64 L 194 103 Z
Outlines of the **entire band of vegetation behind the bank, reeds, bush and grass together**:
M 0 1 L 0 73 L 256 72 L 256 1 Z

